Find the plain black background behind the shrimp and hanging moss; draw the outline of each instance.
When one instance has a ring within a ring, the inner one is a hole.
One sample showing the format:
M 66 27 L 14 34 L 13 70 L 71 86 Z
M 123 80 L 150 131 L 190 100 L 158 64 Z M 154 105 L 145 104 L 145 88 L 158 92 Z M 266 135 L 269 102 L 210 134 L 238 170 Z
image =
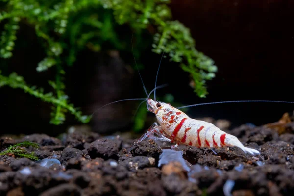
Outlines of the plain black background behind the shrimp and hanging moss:
M 219 70 L 207 83 L 207 98 L 198 98 L 189 86 L 189 74 L 178 65 L 163 60 L 158 84 L 168 83 L 169 86 L 158 90 L 159 96 L 171 93 L 175 101 L 187 105 L 225 100 L 294 101 L 293 1 L 172 0 L 171 8 L 173 18 L 191 29 L 196 49 L 211 57 Z M 21 26 L 19 37 L 30 40 L 31 48 L 16 48 L 14 58 L 9 61 L 9 71 L 25 76 L 29 84 L 46 86 L 55 73 L 49 70 L 32 74 L 44 58 L 34 30 Z M 76 65 L 66 70 L 66 91 L 70 100 L 81 106 L 86 114 L 113 100 L 144 98 L 138 73 L 124 63 L 128 60 L 121 59 L 116 52 L 105 53 L 82 53 Z M 159 59 L 160 56 L 153 53 L 137 59 L 145 65 L 141 74 L 148 90 L 154 87 Z M 132 59 L 129 62 L 133 63 Z M 49 124 L 50 105 L 22 90 L 5 87 L 0 89 L 0 95 L 2 134 L 38 132 L 56 135 L 77 124 L 71 115 L 62 126 Z M 113 104 L 99 111 L 91 123 L 94 130 L 110 133 L 129 129 L 136 104 L 132 101 Z M 294 104 L 285 103 L 230 103 L 197 106 L 188 113 L 191 117 L 228 119 L 236 126 L 275 122 L 285 112 L 292 113 L 293 109 Z

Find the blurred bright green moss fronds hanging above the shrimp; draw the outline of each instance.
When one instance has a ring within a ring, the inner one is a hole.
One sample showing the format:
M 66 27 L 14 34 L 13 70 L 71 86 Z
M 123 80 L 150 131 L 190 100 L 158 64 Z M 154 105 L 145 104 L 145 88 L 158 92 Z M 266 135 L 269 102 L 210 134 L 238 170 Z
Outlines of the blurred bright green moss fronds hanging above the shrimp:
M 191 74 L 195 92 L 205 97 L 205 81 L 215 76 L 217 67 L 212 59 L 195 49 L 189 29 L 171 20 L 168 4 L 169 0 L 0 0 L 3 25 L 0 57 L 13 56 L 20 24 L 25 24 L 35 29 L 46 54 L 36 65 L 36 71 L 56 69 L 54 81 L 49 81 L 52 92 L 45 93 L 42 88 L 26 84 L 17 73 L 0 73 L 0 87 L 21 88 L 52 103 L 50 123 L 63 123 L 67 112 L 87 123 L 90 116 L 82 115 L 74 108 L 64 92 L 64 67 L 72 66 L 78 52 L 84 49 L 99 52 L 107 46 L 108 49 L 130 51 L 131 35 L 123 37 L 118 30 L 123 26 L 134 33 L 137 42 L 144 42 L 143 34 L 153 34 L 153 52 L 165 51 L 171 61 L 180 63 L 182 69 Z M 135 53 L 137 57 L 139 46 Z

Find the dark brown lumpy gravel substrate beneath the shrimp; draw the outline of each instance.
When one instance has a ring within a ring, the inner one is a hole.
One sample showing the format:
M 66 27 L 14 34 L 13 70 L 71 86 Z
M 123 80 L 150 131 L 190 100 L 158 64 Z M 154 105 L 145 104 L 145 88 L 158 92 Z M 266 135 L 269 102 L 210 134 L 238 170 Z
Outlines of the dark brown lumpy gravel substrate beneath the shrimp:
M 52 163 L 41 166 L 40 161 L 0 156 L 0 195 L 293 196 L 294 122 L 242 125 L 227 132 L 261 155 L 253 157 L 236 147 L 218 149 L 217 155 L 183 147 L 188 172 L 179 162 L 158 167 L 163 149 L 152 140 L 132 144 L 83 132 L 67 134 L 62 141 L 44 134 L 21 140 L 2 137 L 0 150 L 33 141 L 40 145 L 36 153 L 41 163 Z

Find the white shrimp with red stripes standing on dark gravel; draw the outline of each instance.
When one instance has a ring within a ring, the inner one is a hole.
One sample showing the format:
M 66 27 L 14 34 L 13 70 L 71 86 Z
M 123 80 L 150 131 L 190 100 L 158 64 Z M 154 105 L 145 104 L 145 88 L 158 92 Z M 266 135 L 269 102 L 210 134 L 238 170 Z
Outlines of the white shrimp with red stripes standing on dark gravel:
M 199 148 L 219 148 L 225 146 L 236 146 L 245 153 L 252 155 L 260 154 L 258 150 L 245 147 L 237 137 L 227 134 L 212 123 L 198 121 L 189 118 L 184 112 L 164 102 L 147 100 L 147 108 L 156 115 L 157 123 L 154 123 L 139 141 L 146 137 L 153 140 L 175 142 L 179 144 Z M 155 136 L 156 133 L 159 137 Z

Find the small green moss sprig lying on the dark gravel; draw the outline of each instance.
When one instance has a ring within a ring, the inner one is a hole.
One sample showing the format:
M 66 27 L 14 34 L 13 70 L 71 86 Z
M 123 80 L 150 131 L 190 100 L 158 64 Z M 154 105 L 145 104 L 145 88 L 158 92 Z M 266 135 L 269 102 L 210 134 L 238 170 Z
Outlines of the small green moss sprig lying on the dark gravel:
M 33 161 L 37 161 L 39 158 L 34 151 L 29 152 L 25 148 L 27 147 L 39 148 L 39 145 L 34 142 L 25 141 L 15 145 L 10 145 L 7 150 L 0 152 L 0 155 L 14 155 L 18 157 L 29 158 Z

